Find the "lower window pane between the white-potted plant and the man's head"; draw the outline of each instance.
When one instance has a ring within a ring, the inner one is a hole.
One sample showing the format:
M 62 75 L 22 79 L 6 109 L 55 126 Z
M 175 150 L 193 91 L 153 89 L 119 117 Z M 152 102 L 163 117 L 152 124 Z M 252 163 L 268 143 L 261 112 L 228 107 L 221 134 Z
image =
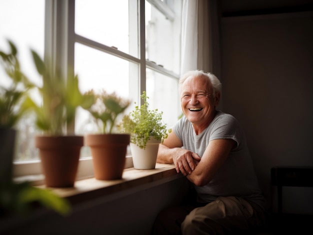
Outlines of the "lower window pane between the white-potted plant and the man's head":
M 162 118 L 170 128 L 181 114 L 178 79 L 146 69 L 146 87 L 149 108 L 163 111 Z

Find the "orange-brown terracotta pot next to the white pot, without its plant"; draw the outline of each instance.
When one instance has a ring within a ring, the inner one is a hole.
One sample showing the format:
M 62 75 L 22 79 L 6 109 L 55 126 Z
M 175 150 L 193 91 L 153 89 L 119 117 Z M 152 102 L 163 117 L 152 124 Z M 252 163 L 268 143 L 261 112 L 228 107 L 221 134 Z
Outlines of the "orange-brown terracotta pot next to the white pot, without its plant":
M 129 134 L 87 134 L 94 177 L 100 180 L 120 179 L 125 167 Z

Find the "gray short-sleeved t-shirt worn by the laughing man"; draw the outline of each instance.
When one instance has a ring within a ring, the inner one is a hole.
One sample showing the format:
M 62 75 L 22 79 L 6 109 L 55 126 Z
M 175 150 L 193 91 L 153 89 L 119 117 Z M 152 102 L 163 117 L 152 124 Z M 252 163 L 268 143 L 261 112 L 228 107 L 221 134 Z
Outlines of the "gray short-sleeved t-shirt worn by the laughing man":
M 237 143 L 209 183 L 201 187 L 194 185 L 199 202 L 210 202 L 218 196 L 240 196 L 264 206 L 243 129 L 232 115 L 217 110 L 211 123 L 198 135 L 185 116 L 172 130 L 182 141 L 183 148 L 200 157 L 210 140 L 230 138 Z

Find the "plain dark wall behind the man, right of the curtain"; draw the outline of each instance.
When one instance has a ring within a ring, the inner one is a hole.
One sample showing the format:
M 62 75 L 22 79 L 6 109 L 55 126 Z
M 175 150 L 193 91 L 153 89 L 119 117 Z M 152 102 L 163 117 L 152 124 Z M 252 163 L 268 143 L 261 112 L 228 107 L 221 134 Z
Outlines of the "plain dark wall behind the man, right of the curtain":
M 302 12 L 221 20 L 222 110 L 244 128 L 270 207 L 272 166 L 313 166 L 312 19 Z M 284 212 L 313 214 L 313 189 L 294 190 L 283 191 Z

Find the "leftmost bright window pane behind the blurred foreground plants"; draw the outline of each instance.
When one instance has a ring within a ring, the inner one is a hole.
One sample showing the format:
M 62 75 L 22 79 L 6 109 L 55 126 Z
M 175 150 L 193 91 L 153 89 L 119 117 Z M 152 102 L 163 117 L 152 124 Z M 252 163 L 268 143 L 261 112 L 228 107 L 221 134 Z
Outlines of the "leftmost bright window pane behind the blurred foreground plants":
M 0 0 L 0 48 L 8 52 L 6 39 L 12 40 L 17 47 L 22 71 L 31 81 L 41 85 L 41 77 L 35 70 L 30 49 L 43 58 L 44 0 Z M 1 85 L 5 76 L 0 67 Z M 15 160 L 38 159 L 34 147 L 33 122 L 22 119 L 17 129 Z

